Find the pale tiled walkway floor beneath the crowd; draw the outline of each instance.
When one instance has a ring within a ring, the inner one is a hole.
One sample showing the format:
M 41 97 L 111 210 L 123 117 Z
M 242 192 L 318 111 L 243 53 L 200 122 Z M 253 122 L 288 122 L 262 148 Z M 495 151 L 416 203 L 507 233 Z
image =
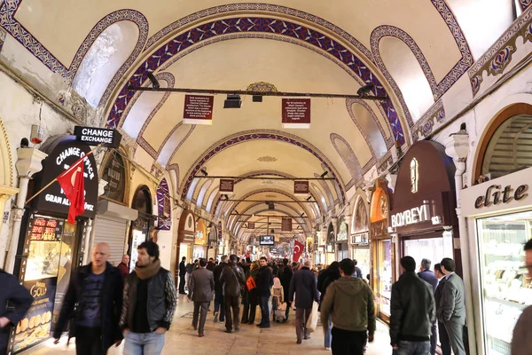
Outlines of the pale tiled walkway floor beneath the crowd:
M 258 310 L 257 310 L 257 313 Z M 199 338 L 192 327 L 192 303 L 185 302 L 180 296 L 174 323 L 167 333 L 163 354 L 176 352 L 187 355 L 217 355 L 217 354 L 305 354 L 325 355 L 324 334 L 321 326 L 311 335 L 311 339 L 303 341 L 301 345 L 295 343 L 294 314 L 286 324 L 271 323 L 272 327 L 260 329 L 255 326 L 243 325 L 239 333 L 223 333 L 223 324 L 214 323 L 212 313 L 207 316 L 205 337 Z M 74 354 L 74 347 L 66 348 L 66 339 L 58 345 L 48 341 L 27 351 L 32 355 Z M 112 348 L 109 355 L 123 354 L 123 345 Z M 377 323 L 375 342 L 371 343 L 367 355 L 391 354 L 387 327 Z

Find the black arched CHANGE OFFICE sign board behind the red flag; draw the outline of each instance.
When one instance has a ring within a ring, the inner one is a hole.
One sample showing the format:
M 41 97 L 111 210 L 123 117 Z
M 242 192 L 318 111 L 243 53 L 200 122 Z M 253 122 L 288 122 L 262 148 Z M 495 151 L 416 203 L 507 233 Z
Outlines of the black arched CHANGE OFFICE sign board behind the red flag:
M 90 146 L 77 142 L 74 136 L 61 136 L 49 139 L 42 147 L 48 156 L 43 160 L 43 170 L 35 174 L 35 191 L 50 183 L 68 169 L 74 162 L 90 152 Z M 85 177 L 85 213 L 82 217 L 96 215 L 98 199 L 98 170 L 94 156 L 90 154 L 83 164 Z M 34 199 L 33 208 L 68 215 L 70 201 L 66 198 L 58 182 L 48 186 Z

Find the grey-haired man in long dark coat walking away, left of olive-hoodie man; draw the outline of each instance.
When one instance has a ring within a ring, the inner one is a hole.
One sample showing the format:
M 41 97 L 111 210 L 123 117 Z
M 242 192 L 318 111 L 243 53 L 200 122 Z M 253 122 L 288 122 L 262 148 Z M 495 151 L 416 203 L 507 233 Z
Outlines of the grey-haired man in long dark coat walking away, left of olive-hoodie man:
M 293 273 L 292 281 L 290 282 L 290 302 L 293 302 L 293 294 L 296 294 L 295 333 L 297 335 L 298 344 L 301 344 L 301 338 L 303 337 L 305 340 L 310 339 L 307 322 L 309 321 L 310 313 L 312 312 L 312 304 L 314 301 L 319 303 L 317 278 L 314 272 L 310 270 L 311 267 L 312 261 L 305 260 L 301 270 Z

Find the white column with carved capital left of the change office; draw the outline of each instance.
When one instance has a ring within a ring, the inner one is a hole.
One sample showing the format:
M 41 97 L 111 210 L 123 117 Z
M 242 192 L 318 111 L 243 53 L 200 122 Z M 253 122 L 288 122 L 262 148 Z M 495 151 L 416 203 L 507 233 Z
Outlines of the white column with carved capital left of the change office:
M 35 148 L 19 148 L 17 149 L 19 160 L 15 164 L 17 173 L 19 174 L 19 193 L 17 194 L 17 201 L 13 209 L 13 229 L 12 238 L 9 241 L 7 257 L 5 260 L 5 270 L 13 272 L 15 265 L 15 255 L 17 254 L 17 247 L 19 246 L 20 225 L 22 223 L 22 216 L 24 215 L 24 204 L 27 199 L 27 184 L 29 178 L 35 172 L 43 170 L 43 159 L 48 156 Z

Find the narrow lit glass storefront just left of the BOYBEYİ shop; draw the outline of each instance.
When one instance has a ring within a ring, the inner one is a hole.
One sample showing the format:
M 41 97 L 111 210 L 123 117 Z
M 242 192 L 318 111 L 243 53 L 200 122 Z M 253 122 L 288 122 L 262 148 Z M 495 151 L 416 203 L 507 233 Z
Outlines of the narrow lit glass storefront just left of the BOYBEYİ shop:
M 391 240 L 377 242 L 377 258 L 377 264 L 379 265 L 379 311 L 389 316 L 393 282 Z

